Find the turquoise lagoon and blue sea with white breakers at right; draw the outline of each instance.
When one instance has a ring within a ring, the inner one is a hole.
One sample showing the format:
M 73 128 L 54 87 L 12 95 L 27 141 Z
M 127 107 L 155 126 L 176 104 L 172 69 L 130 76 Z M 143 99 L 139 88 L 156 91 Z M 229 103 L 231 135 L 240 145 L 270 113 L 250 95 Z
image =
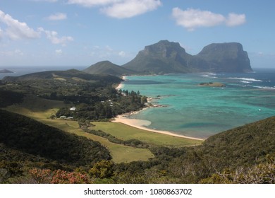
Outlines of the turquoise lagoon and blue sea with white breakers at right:
M 275 115 L 275 69 L 245 74 L 168 74 L 126 76 L 124 90 L 140 91 L 165 107 L 142 110 L 130 118 L 149 120 L 147 127 L 185 136 L 213 134 Z M 224 88 L 197 86 L 224 83 Z

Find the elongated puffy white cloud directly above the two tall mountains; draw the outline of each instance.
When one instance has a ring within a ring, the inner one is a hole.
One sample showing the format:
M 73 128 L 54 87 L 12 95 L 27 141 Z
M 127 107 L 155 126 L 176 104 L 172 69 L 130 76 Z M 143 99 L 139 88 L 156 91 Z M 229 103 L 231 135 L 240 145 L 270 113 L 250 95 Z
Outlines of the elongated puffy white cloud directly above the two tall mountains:
M 212 27 L 221 24 L 233 27 L 245 23 L 245 14 L 229 13 L 228 18 L 226 18 L 219 13 L 192 8 L 185 11 L 180 8 L 173 8 L 172 16 L 176 19 L 178 25 L 187 28 L 189 31 L 199 27 Z

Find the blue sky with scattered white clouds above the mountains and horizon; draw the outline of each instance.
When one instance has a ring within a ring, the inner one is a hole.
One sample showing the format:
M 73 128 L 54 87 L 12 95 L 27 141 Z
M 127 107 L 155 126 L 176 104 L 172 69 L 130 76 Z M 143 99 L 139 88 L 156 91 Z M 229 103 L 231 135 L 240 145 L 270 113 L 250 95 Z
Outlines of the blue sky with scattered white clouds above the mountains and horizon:
M 159 40 L 197 54 L 240 42 L 252 68 L 275 68 L 275 1 L 0 0 L 0 69 L 122 65 Z

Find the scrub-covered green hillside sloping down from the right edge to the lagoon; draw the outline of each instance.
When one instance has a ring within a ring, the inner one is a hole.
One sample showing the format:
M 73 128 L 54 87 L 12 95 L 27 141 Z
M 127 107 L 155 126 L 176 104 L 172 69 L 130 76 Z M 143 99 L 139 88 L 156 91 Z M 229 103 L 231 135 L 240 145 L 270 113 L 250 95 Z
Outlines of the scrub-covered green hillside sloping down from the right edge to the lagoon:
M 200 153 L 218 166 L 259 163 L 267 154 L 275 154 L 275 117 L 210 136 Z

